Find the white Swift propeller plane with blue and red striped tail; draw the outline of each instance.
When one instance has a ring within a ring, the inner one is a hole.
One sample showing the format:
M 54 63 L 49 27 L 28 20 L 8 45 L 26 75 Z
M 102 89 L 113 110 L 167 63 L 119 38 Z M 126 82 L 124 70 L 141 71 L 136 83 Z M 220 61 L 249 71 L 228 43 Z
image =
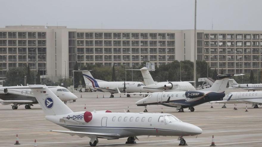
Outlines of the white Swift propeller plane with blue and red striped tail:
M 103 92 L 110 92 L 111 96 L 114 97 L 114 93 L 118 93 L 117 88 L 124 93 L 131 92 L 147 92 L 143 89 L 145 86 L 142 82 L 133 81 L 121 81 L 121 82 L 107 82 L 93 78 L 90 70 L 82 70 L 86 87 L 94 88 Z M 130 97 L 130 94 L 127 94 Z

